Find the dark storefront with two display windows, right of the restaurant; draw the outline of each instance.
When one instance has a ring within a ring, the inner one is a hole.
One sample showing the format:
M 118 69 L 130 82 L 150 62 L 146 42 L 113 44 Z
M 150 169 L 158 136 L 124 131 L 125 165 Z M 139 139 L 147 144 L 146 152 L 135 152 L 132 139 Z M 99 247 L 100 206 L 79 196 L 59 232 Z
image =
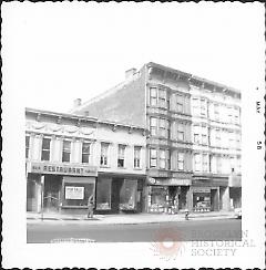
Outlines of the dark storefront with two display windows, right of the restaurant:
M 141 212 L 143 181 L 144 178 L 99 176 L 95 212 Z

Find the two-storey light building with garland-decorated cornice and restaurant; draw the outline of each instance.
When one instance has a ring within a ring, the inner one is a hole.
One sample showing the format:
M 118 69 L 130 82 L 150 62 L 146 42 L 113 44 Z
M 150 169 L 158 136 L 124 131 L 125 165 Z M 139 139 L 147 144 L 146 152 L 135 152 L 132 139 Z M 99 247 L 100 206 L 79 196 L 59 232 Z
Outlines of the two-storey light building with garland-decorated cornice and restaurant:
M 25 110 L 27 210 L 143 211 L 145 129 Z

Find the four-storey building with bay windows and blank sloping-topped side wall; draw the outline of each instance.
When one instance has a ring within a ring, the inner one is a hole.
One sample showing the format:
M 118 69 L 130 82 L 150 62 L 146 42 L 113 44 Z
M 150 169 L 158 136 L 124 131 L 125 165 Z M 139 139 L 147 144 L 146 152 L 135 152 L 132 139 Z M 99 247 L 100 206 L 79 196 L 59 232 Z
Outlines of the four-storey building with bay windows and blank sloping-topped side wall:
M 241 93 L 156 63 L 71 110 L 149 129 L 145 211 L 241 206 Z

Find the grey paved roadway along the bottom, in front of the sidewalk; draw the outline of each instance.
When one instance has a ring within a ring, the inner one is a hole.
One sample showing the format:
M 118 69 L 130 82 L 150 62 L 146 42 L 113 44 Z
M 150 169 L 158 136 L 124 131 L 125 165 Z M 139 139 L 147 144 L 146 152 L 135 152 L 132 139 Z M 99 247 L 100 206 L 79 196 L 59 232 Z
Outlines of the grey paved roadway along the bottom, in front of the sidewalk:
M 242 222 L 236 219 L 184 220 L 140 225 L 45 221 L 27 225 L 27 242 L 241 240 L 241 231 Z

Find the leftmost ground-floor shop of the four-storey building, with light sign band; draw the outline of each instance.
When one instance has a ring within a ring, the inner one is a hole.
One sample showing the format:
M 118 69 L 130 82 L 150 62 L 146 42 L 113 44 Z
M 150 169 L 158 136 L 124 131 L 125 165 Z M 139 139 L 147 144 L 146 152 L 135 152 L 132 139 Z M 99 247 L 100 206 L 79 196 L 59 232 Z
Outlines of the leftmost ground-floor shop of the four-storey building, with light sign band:
M 176 214 L 188 207 L 190 179 L 149 178 L 147 211 Z

